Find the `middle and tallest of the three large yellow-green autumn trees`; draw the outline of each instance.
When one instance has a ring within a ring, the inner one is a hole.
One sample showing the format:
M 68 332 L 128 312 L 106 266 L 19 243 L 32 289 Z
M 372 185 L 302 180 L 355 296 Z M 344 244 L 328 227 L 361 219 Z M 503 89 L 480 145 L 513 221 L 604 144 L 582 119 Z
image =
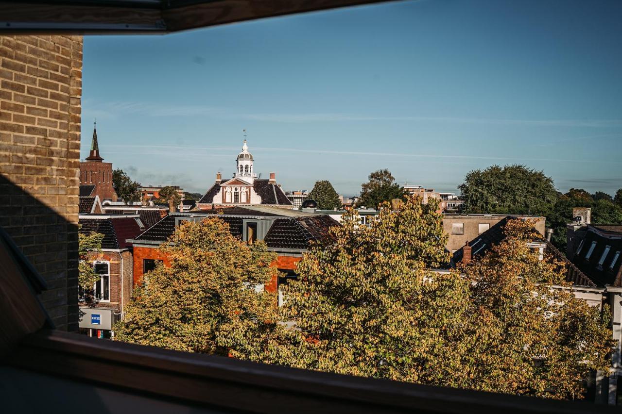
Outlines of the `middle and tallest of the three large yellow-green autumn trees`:
M 369 228 L 346 212 L 330 241 L 303 257 L 282 306 L 299 341 L 274 362 L 425 384 L 462 369 L 468 284 L 457 272 L 429 270 L 450 260 L 438 201 L 408 198 L 399 207 L 383 203 Z

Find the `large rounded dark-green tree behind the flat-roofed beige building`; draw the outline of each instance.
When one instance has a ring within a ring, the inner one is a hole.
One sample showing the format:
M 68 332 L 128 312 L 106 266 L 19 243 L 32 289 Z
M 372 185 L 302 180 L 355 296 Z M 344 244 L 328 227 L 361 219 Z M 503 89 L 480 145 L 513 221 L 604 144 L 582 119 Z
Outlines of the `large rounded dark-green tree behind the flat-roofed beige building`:
M 553 180 L 524 165 L 493 165 L 466 174 L 462 191 L 465 213 L 541 214 L 557 201 Z

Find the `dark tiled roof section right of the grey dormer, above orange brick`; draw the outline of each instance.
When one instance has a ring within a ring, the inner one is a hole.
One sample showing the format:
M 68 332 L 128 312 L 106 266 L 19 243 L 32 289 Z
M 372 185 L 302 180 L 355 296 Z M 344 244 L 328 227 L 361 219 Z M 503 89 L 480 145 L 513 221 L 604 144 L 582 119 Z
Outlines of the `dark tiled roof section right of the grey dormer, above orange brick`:
M 339 223 L 330 216 L 279 218 L 274 221 L 264 241 L 276 249 L 309 249 L 311 241 L 328 237 L 328 229 Z

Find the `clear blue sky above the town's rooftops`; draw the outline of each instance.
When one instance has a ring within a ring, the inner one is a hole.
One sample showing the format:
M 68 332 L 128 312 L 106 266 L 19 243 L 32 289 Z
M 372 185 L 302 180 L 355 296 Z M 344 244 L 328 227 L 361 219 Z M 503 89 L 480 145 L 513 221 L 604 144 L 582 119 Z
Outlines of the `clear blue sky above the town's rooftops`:
M 170 35 L 85 37 L 81 157 L 203 192 L 242 129 L 285 190 L 389 168 L 457 191 L 494 163 L 622 187 L 622 2 L 391 2 Z

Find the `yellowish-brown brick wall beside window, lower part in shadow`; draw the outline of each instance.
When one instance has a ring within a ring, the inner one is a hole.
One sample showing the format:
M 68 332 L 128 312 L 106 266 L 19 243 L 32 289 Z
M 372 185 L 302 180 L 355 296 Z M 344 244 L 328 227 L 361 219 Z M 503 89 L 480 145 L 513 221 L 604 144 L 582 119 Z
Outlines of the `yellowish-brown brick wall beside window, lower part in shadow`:
M 59 329 L 78 328 L 81 36 L 0 36 L 0 226 L 47 280 Z

